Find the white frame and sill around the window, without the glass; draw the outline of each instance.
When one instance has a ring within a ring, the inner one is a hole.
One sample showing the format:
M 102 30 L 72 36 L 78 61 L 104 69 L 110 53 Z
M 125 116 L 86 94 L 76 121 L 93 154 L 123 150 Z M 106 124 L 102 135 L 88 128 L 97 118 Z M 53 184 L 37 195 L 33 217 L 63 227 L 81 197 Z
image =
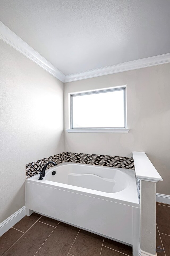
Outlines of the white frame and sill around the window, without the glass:
M 124 91 L 124 127 L 89 127 L 89 128 L 74 128 L 73 127 L 73 97 L 103 93 L 109 91 Z M 127 112 L 126 112 L 126 85 L 112 88 L 105 88 L 100 90 L 91 90 L 83 92 L 74 92 L 69 93 L 69 129 L 66 129 L 68 133 L 128 133 L 129 129 L 127 128 Z

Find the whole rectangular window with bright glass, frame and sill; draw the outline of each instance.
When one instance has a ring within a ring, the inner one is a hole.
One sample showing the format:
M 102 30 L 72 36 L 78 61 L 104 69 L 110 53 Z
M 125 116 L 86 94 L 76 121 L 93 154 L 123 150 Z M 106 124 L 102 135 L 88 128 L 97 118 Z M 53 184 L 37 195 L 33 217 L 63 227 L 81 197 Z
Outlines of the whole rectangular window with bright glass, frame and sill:
M 70 94 L 68 132 L 128 132 L 126 87 Z

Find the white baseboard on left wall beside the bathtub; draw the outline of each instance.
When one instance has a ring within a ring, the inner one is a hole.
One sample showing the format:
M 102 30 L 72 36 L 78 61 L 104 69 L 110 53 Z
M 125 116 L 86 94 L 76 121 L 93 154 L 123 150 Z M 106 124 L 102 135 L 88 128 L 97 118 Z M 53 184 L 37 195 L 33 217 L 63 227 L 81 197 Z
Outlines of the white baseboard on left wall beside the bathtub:
M 0 236 L 25 216 L 25 206 L 0 223 Z

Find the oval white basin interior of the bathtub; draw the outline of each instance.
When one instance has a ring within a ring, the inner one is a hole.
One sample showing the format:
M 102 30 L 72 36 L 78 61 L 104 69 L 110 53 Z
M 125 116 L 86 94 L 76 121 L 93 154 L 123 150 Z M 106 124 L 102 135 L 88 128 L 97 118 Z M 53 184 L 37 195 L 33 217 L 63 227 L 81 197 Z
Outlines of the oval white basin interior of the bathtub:
M 45 180 L 106 193 L 116 193 L 129 186 L 129 176 L 114 168 L 68 164 L 53 167 L 52 170 L 56 174 L 48 171 Z

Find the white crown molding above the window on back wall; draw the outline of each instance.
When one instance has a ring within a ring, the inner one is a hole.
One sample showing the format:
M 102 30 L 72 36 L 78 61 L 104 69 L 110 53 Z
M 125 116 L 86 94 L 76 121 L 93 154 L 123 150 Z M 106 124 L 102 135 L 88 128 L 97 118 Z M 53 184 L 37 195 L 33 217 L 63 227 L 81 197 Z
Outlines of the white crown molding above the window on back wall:
M 77 81 L 92 77 L 99 77 L 101 75 L 109 75 L 134 69 L 142 69 L 144 67 L 151 67 L 155 65 L 170 63 L 170 53 L 162 54 L 154 57 L 138 59 L 135 61 L 128 61 L 120 64 L 116 64 L 109 67 L 104 67 L 100 69 L 92 69 L 82 73 L 66 75 L 65 76 L 65 83 L 71 81 Z

